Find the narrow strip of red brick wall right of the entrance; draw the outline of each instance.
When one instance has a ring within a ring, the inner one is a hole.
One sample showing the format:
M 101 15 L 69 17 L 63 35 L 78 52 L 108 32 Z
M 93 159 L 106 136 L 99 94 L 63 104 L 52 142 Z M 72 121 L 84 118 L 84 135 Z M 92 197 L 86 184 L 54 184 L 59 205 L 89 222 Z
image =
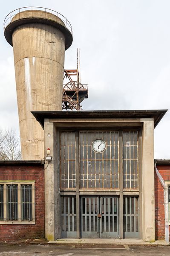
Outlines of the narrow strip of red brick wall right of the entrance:
M 170 165 L 156 166 L 164 180 L 170 180 Z M 155 236 L 156 239 L 165 239 L 164 225 L 164 189 L 155 172 Z M 169 226 L 170 232 L 170 226 Z

